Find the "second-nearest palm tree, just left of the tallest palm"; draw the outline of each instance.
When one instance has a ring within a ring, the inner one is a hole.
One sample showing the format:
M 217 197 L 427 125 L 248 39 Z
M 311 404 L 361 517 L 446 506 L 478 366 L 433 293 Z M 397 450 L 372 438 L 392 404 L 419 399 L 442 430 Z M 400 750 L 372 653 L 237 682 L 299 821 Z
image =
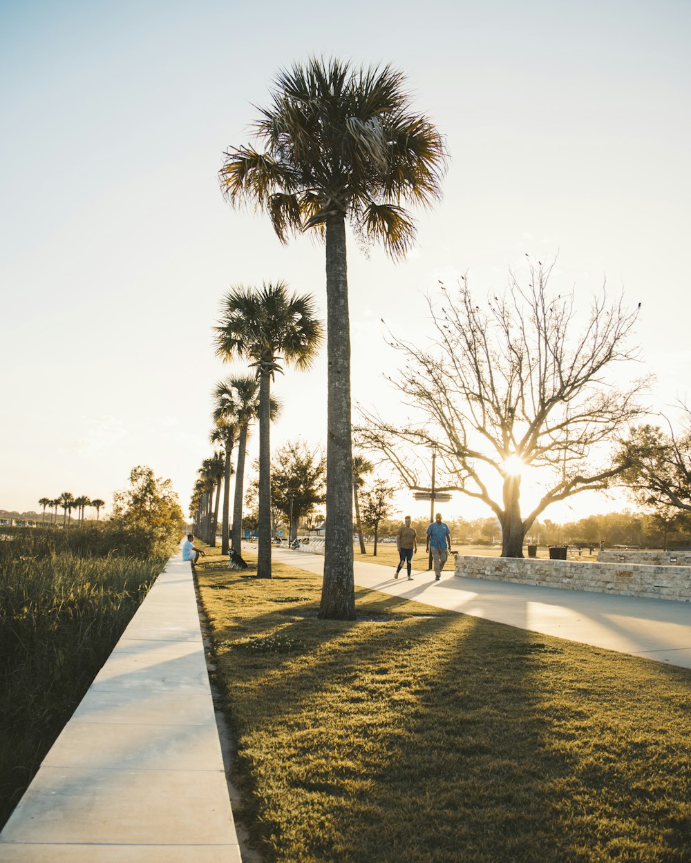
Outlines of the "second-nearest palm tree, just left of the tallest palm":
M 225 360 L 243 357 L 259 381 L 259 548 L 257 576 L 271 577 L 270 400 L 271 379 L 281 362 L 308 369 L 322 341 L 312 297 L 288 294 L 283 281 L 261 290 L 242 286 L 223 299 L 216 330 L 216 353 Z

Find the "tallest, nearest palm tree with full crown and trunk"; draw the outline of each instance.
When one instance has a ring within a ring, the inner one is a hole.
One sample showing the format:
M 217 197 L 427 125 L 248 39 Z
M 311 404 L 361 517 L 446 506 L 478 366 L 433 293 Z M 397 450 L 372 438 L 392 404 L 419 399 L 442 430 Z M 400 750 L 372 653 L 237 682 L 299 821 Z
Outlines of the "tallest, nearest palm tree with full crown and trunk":
M 412 112 L 390 66 L 313 58 L 279 73 L 255 124 L 263 152 L 230 148 L 219 172 L 232 205 L 269 214 L 282 243 L 316 229 L 326 241 L 328 401 L 326 556 L 320 617 L 353 620 L 350 323 L 346 221 L 400 258 L 415 240 L 409 203 L 441 194 L 444 141 Z

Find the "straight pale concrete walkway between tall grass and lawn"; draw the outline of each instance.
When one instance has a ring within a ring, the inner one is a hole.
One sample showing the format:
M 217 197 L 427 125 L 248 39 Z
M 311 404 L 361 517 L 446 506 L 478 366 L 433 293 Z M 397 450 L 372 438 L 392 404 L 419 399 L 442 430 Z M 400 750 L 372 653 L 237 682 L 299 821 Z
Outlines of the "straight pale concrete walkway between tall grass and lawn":
M 240 863 L 190 564 L 168 562 L 0 835 L 2 863 Z

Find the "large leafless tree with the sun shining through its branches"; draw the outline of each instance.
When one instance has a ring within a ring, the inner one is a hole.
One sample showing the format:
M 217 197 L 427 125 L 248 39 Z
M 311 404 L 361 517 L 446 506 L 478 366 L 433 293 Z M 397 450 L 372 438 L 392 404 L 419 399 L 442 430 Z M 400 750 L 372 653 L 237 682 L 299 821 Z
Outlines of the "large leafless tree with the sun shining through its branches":
M 612 365 L 637 358 L 627 346 L 637 310 L 625 309 L 621 298 L 609 305 L 603 287 L 579 325 L 574 293 L 548 294 L 553 267 L 530 264 L 527 287 L 510 272 L 504 295 L 489 298 L 485 308 L 466 277 L 456 298 L 442 285 L 441 305 L 429 300 L 431 346 L 391 342 L 405 358 L 404 373 L 391 382 L 417 421 L 402 427 L 364 412 L 366 425 L 358 430 L 411 489 L 424 489 L 423 447 L 434 444 L 437 490 L 460 491 L 491 507 L 502 527 L 502 557 L 523 557 L 526 532 L 550 504 L 608 488 L 624 465 L 605 453 L 605 444 L 643 413 L 636 396 L 645 381 L 621 387 L 605 380 Z M 523 516 L 527 469 L 535 470 L 542 497 Z

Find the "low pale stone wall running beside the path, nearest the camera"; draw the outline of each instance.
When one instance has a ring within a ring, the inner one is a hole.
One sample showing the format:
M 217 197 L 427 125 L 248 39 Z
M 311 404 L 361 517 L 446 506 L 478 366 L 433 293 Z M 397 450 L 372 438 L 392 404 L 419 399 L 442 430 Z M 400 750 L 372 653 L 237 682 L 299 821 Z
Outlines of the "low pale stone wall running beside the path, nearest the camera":
M 691 567 L 457 555 L 455 575 L 548 588 L 691 601 Z

